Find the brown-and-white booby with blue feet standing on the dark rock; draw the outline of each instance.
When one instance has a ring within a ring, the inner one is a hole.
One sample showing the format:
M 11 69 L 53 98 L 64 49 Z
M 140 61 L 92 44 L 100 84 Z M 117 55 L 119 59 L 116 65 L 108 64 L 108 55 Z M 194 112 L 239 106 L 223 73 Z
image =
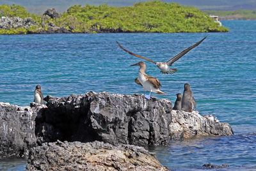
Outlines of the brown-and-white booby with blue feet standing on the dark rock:
M 139 70 L 139 76 L 134 81 L 136 84 L 142 85 L 144 88 L 144 91 L 149 91 L 149 96 L 146 96 L 146 98 L 150 98 L 151 92 L 157 93 L 157 94 L 166 94 L 163 93 L 163 91 L 160 91 L 161 82 L 157 78 L 151 77 L 145 73 L 146 71 L 146 64 L 143 62 L 139 62 L 136 64 L 132 64 L 131 66 L 140 66 Z

